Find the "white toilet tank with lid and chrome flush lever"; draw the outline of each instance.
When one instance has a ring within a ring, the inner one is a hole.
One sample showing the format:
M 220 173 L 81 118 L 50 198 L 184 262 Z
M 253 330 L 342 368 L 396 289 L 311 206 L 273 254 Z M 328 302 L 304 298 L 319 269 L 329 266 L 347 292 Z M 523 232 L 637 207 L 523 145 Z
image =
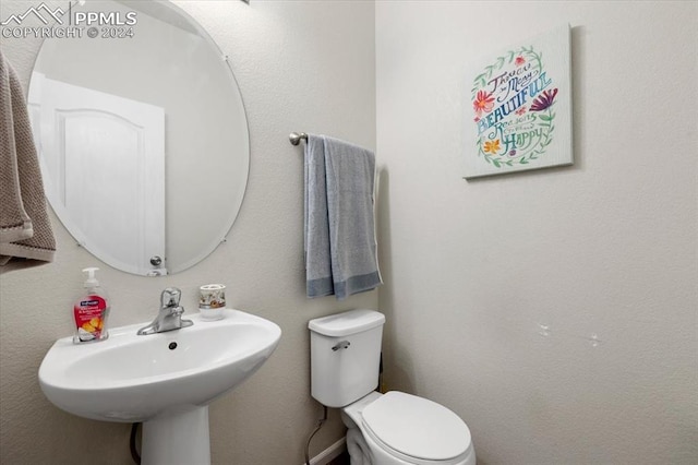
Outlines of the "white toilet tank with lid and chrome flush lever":
M 311 395 L 327 407 L 344 407 L 378 385 L 385 317 L 350 310 L 311 320 Z

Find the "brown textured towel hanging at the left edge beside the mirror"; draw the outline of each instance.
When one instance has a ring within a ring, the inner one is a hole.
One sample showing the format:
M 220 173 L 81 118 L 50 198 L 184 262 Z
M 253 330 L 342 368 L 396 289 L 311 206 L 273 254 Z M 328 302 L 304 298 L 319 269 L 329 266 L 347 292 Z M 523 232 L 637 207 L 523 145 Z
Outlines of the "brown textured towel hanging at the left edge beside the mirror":
M 51 262 L 55 252 L 24 92 L 0 50 L 0 273 Z

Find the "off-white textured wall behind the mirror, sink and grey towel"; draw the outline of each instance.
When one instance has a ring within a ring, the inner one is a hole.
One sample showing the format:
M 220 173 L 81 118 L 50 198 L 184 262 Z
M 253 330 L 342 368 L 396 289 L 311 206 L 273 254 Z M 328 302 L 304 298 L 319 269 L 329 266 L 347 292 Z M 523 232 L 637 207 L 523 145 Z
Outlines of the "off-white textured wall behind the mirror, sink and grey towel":
M 47 2 L 51 8 L 64 1 Z M 240 389 L 210 408 L 214 463 L 300 464 L 322 408 L 310 396 L 308 321 L 376 308 L 377 293 L 308 300 L 302 260 L 302 147 L 291 131 L 334 134 L 375 147 L 374 7 L 369 2 L 255 0 L 178 2 L 231 57 L 251 136 L 250 180 L 228 242 L 202 264 L 163 278 L 127 275 L 80 249 L 52 217 L 53 264 L 0 278 L 0 463 L 130 464 L 129 426 L 84 420 L 53 407 L 37 370 L 52 342 L 71 334 L 82 270 L 97 264 L 112 296 L 113 325 L 149 321 L 159 293 L 178 286 L 189 312 L 196 288 L 228 285 L 229 305 L 270 319 L 284 332 L 276 353 Z M 26 11 L 2 0 L 0 16 Z M 318 40 L 317 38 L 322 38 Z M 39 40 L 2 38 L 28 85 Z M 344 433 L 335 412 L 312 455 Z

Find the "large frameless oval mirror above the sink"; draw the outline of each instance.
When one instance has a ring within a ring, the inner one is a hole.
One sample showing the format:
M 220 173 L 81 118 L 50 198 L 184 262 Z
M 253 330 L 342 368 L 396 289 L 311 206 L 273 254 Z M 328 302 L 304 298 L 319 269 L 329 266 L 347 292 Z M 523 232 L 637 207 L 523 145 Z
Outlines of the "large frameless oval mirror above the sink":
M 240 91 L 213 39 L 174 4 L 82 3 L 67 12 L 82 35 L 46 39 L 29 85 L 47 198 L 107 264 L 180 272 L 225 241 L 242 203 Z M 105 13 L 95 27 L 91 12 Z

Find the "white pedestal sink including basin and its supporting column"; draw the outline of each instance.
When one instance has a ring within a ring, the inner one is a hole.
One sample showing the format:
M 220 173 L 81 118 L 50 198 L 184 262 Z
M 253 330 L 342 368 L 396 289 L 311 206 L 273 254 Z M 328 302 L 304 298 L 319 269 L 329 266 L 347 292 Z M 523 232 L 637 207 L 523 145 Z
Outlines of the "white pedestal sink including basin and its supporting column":
M 109 330 L 109 338 L 75 345 L 58 339 L 39 367 L 56 406 L 85 418 L 143 422 L 142 463 L 208 464 L 208 404 L 252 375 L 281 330 L 239 310 L 193 326 L 136 335 L 147 323 Z

